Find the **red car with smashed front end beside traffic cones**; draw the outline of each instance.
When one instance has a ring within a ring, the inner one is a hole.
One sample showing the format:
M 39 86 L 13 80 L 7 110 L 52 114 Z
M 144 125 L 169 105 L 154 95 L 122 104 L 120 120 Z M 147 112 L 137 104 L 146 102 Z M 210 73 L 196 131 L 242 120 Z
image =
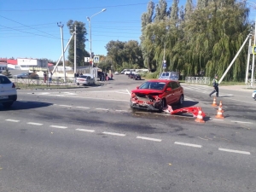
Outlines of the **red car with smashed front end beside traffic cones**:
M 131 90 L 131 108 L 162 111 L 168 105 L 184 101 L 183 87 L 173 80 L 148 80 Z

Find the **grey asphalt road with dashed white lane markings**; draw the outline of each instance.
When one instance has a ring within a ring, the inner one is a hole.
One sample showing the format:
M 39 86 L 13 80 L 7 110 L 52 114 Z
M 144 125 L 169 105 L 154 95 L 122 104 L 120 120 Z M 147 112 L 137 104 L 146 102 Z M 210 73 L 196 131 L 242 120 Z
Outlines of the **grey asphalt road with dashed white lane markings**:
M 185 107 L 206 123 L 129 108 L 142 81 L 114 76 L 99 87 L 18 90 L 0 107 L 0 191 L 256 191 L 252 91 L 183 84 Z

